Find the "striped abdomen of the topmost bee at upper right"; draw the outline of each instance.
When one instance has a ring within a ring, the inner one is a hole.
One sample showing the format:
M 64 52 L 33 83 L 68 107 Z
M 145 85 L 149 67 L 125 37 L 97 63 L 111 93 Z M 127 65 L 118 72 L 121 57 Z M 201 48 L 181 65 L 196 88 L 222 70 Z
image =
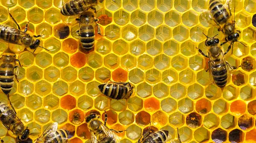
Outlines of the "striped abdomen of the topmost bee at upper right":
M 230 15 L 227 12 L 226 8 L 223 8 L 223 4 L 220 0 L 210 0 L 209 1 L 209 10 L 213 18 L 219 23 L 226 23 L 230 18 Z

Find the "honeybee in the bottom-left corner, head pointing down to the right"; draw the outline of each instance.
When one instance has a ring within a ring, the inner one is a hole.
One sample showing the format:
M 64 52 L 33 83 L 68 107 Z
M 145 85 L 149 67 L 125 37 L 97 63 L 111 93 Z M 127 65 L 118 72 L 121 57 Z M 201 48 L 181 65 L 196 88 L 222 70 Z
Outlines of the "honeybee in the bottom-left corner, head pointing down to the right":
M 17 136 L 17 143 L 32 143 L 32 140 L 29 138 L 29 129 L 24 129 L 23 123 L 15 112 L 2 102 L 0 102 L 0 121 L 2 121 L 6 129 L 12 131 Z

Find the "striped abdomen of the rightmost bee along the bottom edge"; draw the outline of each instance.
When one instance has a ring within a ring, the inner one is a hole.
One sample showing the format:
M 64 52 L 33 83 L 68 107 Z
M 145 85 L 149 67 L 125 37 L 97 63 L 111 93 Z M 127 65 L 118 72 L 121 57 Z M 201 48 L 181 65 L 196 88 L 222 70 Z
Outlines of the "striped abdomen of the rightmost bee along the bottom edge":
M 167 130 L 159 130 L 153 132 L 146 137 L 142 143 L 164 143 L 169 135 L 169 131 Z

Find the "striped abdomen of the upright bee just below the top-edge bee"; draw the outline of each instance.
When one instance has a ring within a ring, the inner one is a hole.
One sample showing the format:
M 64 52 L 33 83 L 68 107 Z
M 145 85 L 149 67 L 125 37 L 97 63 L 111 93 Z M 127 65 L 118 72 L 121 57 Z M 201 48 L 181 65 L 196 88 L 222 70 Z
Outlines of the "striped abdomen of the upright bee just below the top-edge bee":
M 94 28 L 93 25 L 87 27 L 84 26 L 83 29 L 80 29 L 80 42 L 84 50 L 91 50 L 94 47 Z

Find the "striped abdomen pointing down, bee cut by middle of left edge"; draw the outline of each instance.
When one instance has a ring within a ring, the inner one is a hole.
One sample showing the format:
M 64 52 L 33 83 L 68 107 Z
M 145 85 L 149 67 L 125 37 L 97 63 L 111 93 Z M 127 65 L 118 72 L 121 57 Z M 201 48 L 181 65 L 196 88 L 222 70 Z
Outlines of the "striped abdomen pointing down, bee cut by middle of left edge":
M 14 84 L 14 67 L 12 63 L 0 65 L 0 87 L 3 93 L 9 94 Z

